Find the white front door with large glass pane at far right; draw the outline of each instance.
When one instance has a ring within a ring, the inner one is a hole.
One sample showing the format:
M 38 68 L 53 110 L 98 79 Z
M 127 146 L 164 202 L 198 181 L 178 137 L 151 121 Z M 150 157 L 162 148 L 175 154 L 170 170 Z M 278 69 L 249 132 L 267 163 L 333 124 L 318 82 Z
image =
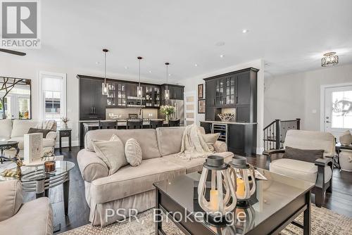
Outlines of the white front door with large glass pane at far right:
M 339 139 L 352 129 L 352 86 L 325 88 L 325 132 Z

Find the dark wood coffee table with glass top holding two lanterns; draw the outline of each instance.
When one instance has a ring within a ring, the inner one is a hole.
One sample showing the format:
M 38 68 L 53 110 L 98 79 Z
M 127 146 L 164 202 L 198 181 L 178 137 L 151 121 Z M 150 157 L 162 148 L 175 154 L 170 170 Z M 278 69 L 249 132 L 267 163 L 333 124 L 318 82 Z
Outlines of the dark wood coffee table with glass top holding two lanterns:
M 257 170 L 268 180 L 256 180 L 256 200 L 249 208 L 235 208 L 231 224 L 212 224 L 204 217 L 196 220 L 202 211 L 194 199 L 194 185 L 201 176 L 198 172 L 155 183 L 156 209 L 160 209 L 156 211 L 156 234 L 165 234 L 162 212 L 184 234 L 278 234 L 290 223 L 301 227 L 303 234 L 310 234 L 310 191 L 314 184 Z M 302 212 L 303 224 L 295 222 Z M 187 215 L 190 220 L 181 219 Z

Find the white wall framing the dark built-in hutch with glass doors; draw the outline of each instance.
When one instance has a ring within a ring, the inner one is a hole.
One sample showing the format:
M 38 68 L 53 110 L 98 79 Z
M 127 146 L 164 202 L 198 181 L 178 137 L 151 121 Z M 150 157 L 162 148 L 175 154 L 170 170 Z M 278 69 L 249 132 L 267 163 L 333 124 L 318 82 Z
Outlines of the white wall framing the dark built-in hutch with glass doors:
M 184 85 L 184 92 L 197 91 L 198 84 L 204 84 L 203 78 L 220 75 L 226 72 L 233 72 L 244 68 L 258 68 L 258 101 L 257 101 L 257 153 L 263 153 L 263 120 L 264 120 L 264 61 L 258 59 L 256 61 L 249 61 L 247 63 L 241 63 L 234 65 L 222 70 L 216 70 L 196 77 L 187 77 L 179 82 Z M 205 91 L 204 91 L 205 92 Z M 206 94 L 205 94 L 206 97 Z M 198 103 L 197 103 L 198 104 Z M 198 108 L 196 106 L 196 112 Z M 205 120 L 205 114 L 196 113 L 196 123 L 199 125 L 199 121 Z

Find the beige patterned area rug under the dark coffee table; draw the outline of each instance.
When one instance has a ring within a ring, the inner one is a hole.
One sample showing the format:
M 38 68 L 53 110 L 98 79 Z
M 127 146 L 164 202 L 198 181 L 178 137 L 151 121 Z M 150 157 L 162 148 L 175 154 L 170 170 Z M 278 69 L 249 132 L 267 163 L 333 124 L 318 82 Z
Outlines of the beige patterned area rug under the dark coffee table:
M 155 234 L 155 223 L 153 222 L 153 210 L 147 210 L 138 216 L 139 222 L 132 219 L 130 222 L 121 222 L 111 224 L 107 227 L 92 227 L 90 224 L 78 227 L 70 231 L 62 233 L 63 235 L 146 235 Z M 303 221 L 303 215 L 299 215 L 298 221 Z M 312 235 L 351 235 L 352 234 L 352 218 L 345 215 L 339 215 L 332 210 L 326 208 L 317 208 L 312 206 L 311 215 L 311 234 Z M 178 229 L 172 222 L 163 222 L 163 230 L 168 235 L 182 235 L 182 231 Z M 301 235 L 303 230 L 290 224 L 282 231 L 284 235 Z

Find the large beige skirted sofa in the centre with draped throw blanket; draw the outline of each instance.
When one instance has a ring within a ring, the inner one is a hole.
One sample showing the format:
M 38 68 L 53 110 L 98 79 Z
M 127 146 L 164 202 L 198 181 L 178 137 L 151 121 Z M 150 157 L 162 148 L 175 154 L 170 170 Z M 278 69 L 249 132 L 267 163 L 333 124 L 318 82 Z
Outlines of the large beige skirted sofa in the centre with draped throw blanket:
M 118 215 L 107 216 L 107 209 L 127 209 L 118 212 L 129 215 L 129 208 L 135 208 L 139 212 L 153 208 L 155 206 L 153 182 L 202 169 L 205 158 L 182 160 L 176 157 L 181 149 L 183 131 L 184 127 L 162 127 L 99 129 L 87 132 L 85 148 L 78 153 L 77 161 L 90 207 L 89 220 L 93 225 L 104 226 L 122 219 Z M 142 148 L 143 160 L 137 167 L 127 165 L 108 176 L 108 167 L 94 153 L 92 141 L 109 140 L 113 134 L 118 135 L 124 144 L 127 139 L 136 139 Z M 221 155 L 227 162 L 233 156 L 233 153 L 226 151 L 227 146 L 224 142 L 217 141 L 215 150 L 222 151 L 216 154 Z

